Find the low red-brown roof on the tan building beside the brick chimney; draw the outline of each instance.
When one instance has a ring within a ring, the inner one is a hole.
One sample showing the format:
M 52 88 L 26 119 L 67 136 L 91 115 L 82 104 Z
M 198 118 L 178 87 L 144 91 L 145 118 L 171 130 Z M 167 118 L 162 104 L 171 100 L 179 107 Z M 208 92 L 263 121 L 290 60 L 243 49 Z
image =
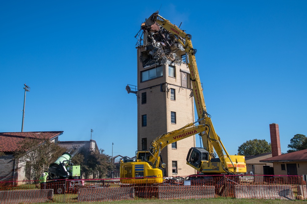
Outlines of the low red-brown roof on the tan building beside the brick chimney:
M 276 161 L 307 161 L 307 149 L 260 160 L 260 162 Z

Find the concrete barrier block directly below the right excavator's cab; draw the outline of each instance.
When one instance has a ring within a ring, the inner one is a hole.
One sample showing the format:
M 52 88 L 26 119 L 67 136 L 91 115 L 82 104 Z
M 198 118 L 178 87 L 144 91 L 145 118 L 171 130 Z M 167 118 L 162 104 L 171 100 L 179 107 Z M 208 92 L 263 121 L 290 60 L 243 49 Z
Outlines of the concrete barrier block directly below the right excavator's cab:
M 159 199 L 214 198 L 214 186 L 159 186 Z

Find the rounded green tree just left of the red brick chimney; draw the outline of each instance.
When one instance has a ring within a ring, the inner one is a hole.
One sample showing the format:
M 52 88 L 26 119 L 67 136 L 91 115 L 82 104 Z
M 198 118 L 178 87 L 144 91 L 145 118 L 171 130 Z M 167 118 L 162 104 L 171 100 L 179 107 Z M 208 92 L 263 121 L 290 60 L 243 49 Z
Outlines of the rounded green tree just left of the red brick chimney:
M 248 140 L 238 147 L 240 155 L 251 156 L 271 152 L 271 143 L 265 139 Z

